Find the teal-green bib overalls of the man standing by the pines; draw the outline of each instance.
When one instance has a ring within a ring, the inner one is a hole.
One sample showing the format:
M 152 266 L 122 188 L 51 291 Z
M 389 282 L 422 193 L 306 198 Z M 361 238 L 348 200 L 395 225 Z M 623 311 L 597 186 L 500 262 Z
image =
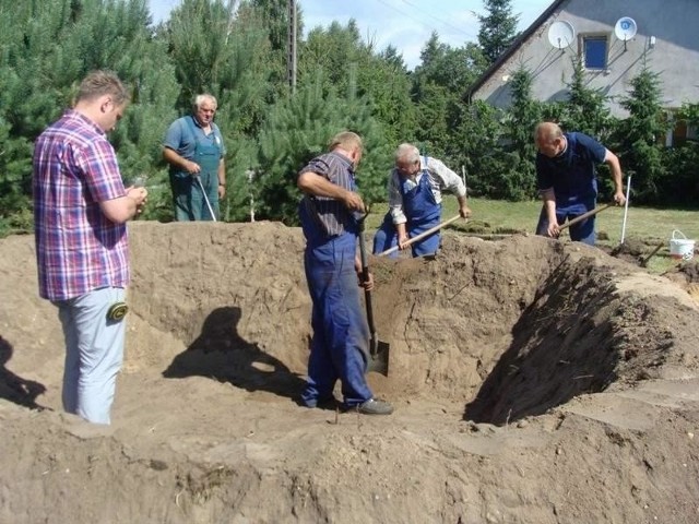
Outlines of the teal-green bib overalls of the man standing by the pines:
M 189 131 L 197 146 L 192 162 L 199 164 L 199 181 L 189 172 L 170 170 L 170 187 L 175 200 L 175 218 L 177 221 L 211 221 L 211 212 L 204 200 L 202 188 L 209 198 L 209 203 L 218 216 L 218 165 L 221 163 L 221 145 L 216 141 L 217 134 L 212 132 L 205 138 L 197 132 L 193 117 L 186 117 Z M 212 124 L 213 126 L 213 124 Z M 201 186 L 199 184 L 201 182 Z

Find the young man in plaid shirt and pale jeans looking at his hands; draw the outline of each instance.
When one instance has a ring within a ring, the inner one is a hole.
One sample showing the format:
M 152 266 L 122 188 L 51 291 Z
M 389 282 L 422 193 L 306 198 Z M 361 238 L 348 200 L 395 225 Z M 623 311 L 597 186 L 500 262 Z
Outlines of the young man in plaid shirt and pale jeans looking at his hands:
M 145 188 L 123 187 L 106 138 L 128 103 L 115 74 L 92 72 L 74 107 L 34 148 L 39 295 L 58 307 L 66 337 L 63 408 L 96 424 L 110 422 L 123 359 L 126 222 L 141 212 L 147 195 Z

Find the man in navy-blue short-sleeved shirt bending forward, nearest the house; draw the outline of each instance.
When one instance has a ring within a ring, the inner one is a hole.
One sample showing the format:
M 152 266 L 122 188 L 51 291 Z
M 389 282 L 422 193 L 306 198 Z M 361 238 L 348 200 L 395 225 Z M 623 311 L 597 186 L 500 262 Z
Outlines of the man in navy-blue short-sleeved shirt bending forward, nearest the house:
M 538 148 L 536 184 L 544 200 L 536 235 L 557 237 L 566 221 L 595 209 L 597 164 L 609 165 L 614 202 L 626 203 L 619 159 L 600 142 L 583 133 L 564 133 L 554 122 L 536 126 L 534 139 Z M 594 215 L 570 226 L 570 239 L 594 246 Z

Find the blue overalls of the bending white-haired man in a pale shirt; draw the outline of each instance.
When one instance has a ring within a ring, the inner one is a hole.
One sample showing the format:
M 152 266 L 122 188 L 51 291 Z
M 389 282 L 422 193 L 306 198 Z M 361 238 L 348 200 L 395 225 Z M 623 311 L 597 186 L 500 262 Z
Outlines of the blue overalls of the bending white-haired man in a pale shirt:
M 427 157 L 425 157 L 425 166 L 427 166 Z M 408 189 L 407 180 L 401 180 L 401 196 L 403 200 L 403 214 L 407 218 L 405 228 L 408 237 L 413 238 L 439 224 L 441 205 L 435 200 L 435 194 L 429 184 L 427 167 L 423 169 L 423 176 L 416 187 Z M 411 245 L 413 257 L 435 254 L 439 249 L 439 233 L 436 233 Z M 381 253 L 396 245 L 398 231 L 393 224 L 393 217 L 389 212 L 374 236 L 374 254 Z M 398 257 L 398 252 L 391 253 L 391 257 Z

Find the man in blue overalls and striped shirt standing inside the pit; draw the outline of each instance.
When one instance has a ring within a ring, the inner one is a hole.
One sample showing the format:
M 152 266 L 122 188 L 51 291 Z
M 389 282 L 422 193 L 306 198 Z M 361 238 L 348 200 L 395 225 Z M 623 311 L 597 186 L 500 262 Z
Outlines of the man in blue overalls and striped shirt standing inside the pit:
M 359 286 L 371 290 L 374 278 L 369 275 L 362 282 L 357 257 L 357 214 L 362 216 L 365 205 L 356 192 L 354 171 L 360 159 L 362 139 L 344 131 L 332 139 L 329 153 L 298 174 L 297 184 L 305 193 L 298 209 L 306 237 L 304 267 L 313 305 L 301 402 L 307 407 L 331 406 L 340 380 L 346 408 L 389 415 L 393 407 L 374 397 L 365 377 L 370 335 Z

